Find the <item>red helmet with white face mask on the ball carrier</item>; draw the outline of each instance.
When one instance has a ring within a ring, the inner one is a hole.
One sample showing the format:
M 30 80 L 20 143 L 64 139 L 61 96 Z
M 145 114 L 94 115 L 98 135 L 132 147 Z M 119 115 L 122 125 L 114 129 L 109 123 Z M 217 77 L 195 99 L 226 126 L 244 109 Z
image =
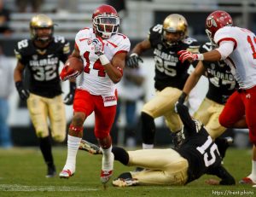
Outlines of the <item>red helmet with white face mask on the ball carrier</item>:
M 110 38 L 119 30 L 119 15 L 110 5 L 101 5 L 92 14 L 94 31 L 103 39 Z

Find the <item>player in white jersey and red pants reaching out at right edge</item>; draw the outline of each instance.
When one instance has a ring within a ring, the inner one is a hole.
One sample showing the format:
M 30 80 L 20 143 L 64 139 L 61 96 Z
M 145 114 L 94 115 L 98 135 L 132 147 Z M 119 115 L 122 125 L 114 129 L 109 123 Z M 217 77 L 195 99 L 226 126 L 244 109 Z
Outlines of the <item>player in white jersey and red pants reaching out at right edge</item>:
M 179 51 L 181 61 L 220 61 L 229 65 L 240 89 L 235 91 L 219 116 L 224 127 L 248 128 L 250 141 L 253 142 L 252 173 L 240 183 L 256 183 L 256 36 L 253 32 L 232 26 L 230 14 L 215 11 L 207 17 L 206 32 L 217 49 L 193 54 Z

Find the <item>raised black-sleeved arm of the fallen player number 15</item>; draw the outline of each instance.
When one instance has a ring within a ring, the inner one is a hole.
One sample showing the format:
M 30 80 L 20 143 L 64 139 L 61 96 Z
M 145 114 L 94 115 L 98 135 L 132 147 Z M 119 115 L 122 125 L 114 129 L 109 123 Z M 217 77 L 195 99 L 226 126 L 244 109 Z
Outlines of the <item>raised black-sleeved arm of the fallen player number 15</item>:
M 183 121 L 183 125 L 187 131 L 196 132 L 195 122 L 191 119 L 189 114 L 189 109 L 180 102 L 177 102 L 177 113 L 179 114 L 180 119 Z

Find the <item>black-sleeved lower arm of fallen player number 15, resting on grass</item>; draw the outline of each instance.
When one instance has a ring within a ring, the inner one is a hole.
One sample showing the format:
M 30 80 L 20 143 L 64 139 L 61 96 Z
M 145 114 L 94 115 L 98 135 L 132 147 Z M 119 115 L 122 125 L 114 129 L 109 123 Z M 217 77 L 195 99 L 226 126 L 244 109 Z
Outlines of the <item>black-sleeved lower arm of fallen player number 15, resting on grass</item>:
M 223 165 L 218 165 L 218 167 L 210 168 L 207 174 L 215 175 L 221 178 L 219 182 L 220 185 L 235 185 L 235 178 L 230 175 L 230 173 L 224 168 Z

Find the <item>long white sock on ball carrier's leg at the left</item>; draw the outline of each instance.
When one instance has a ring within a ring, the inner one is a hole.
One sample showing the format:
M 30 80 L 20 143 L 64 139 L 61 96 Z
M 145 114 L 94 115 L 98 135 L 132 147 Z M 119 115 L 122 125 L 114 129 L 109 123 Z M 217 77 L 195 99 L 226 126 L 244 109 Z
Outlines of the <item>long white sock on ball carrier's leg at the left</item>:
M 79 144 L 82 138 L 77 136 L 67 136 L 67 161 L 64 170 L 70 170 L 73 173 L 76 170 L 76 157 L 79 150 Z

